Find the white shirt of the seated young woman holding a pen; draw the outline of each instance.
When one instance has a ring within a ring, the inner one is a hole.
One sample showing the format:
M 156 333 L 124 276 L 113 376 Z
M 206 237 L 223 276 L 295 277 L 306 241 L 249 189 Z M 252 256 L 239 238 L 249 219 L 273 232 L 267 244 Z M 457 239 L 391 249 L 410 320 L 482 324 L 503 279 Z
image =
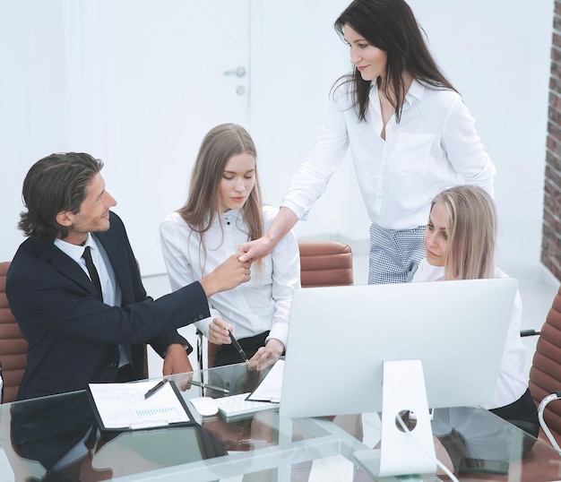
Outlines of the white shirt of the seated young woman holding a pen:
M 278 212 L 263 207 L 263 228 L 266 231 Z M 175 291 L 209 274 L 247 241 L 246 225 L 237 210 L 222 213 L 211 228 L 200 237 L 187 226 L 177 212 L 169 214 L 160 224 L 160 243 L 168 270 L 169 283 Z M 261 266 L 254 263 L 251 280 L 229 291 L 209 298 L 211 317 L 194 323 L 208 337 L 213 318 L 222 318 L 235 327 L 238 339 L 271 331 L 267 340 L 287 344 L 292 295 L 300 288 L 300 257 L 298 243 L 290 231 L 272 254 L 265 256 Z

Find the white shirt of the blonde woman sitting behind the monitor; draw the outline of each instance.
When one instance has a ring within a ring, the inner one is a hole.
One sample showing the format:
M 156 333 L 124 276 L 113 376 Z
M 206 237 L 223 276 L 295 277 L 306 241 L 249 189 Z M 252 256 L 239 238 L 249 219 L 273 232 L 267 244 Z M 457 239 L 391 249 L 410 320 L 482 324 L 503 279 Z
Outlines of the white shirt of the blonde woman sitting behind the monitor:
M 413 282 L 442 280 L 443 276 L 444 268 L 442 266 L 432 266 L 425 258 L 419 263 Z M 508 278 L 508 275 L 496 268 L 495 278 Z M 484 409 L 498 409 L 514 403 L 528 389 L 528 378 L 524 375 L 526 349 L 520 338 L 521 320 L 522 298 L 517 290 L 495 395 L 493 400 L 484 406 Z M 458 336 L 461 336 L 461 333 L 458 333 Z M 485 336 L 485 333 L 481 333 L 481 336 Z M 474 353 L 474 357 L 477 357 L 477 354 Z

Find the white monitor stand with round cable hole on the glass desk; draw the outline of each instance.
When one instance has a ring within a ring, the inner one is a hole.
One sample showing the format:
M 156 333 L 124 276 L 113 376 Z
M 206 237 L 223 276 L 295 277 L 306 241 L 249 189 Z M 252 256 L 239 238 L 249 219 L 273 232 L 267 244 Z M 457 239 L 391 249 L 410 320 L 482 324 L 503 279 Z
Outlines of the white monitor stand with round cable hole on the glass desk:
M 384 361 L 383 380 L 380 448 L 355 452 L 358 465 L 374 477 L 435 473 L 435 443 L 421 361 Z M 404 411 L 414 414 L 413 422 L 416 417 L 410 433 L 397 421 Z

